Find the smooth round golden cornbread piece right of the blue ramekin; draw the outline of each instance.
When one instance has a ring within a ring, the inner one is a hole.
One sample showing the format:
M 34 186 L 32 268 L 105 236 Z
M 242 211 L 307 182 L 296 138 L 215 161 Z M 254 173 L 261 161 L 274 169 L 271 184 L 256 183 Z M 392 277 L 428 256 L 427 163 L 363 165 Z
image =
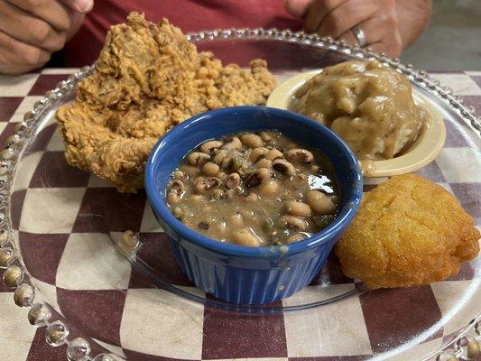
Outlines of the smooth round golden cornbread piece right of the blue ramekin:
M 479 236 L 458 199 L 406 174 L 365 194 L 335 252 L 343 272 L 370 288 L 416 286 L 458 274 Z

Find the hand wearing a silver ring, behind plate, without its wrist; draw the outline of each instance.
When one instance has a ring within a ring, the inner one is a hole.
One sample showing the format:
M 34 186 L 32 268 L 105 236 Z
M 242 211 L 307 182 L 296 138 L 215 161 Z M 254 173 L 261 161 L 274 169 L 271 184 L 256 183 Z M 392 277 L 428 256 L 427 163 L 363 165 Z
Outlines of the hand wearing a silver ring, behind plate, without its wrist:
M 304 19 L 307 32 L 356 44 L 352 29 L 357 27 L 365 33 L 365 47 L 393 58 L 401 54 L 395 0 L 284 0 L 284 6 Z

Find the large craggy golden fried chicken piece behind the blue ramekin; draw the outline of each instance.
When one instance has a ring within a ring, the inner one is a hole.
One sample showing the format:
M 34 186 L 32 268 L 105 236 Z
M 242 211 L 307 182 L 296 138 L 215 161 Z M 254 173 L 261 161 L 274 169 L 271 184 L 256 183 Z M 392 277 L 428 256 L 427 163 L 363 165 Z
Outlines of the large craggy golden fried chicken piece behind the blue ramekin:
M 120 191 L 143 188 L 146 158 L 172 126 L 209 109 L 265 104 L 276 80 L 264 60 L 250 68 L 223 67 L 167 20 L 130 14 L 108 32 L 76 101 L 57 112 L 67 161 Z

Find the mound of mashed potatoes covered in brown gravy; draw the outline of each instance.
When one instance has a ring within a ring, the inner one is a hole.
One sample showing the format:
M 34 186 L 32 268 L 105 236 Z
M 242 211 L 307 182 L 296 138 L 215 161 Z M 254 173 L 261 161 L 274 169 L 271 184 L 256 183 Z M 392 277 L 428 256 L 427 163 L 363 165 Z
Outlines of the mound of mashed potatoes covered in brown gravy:
M 290 108 L 339 134 L 359 160 L 402 153 L 427 116 L 414 104 L 409 80 L 378 61 L 325 68 L 297 90 Z

